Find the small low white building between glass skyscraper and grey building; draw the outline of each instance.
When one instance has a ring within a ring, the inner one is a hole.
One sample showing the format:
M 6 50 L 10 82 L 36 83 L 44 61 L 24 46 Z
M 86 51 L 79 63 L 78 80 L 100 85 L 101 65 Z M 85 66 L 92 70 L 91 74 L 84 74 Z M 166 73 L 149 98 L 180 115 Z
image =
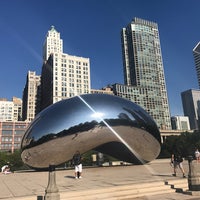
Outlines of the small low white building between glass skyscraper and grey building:
M 173 116 L 171 117 L 171 124 L 173 130 L 190 130 L 190 122 L 187 116 Z

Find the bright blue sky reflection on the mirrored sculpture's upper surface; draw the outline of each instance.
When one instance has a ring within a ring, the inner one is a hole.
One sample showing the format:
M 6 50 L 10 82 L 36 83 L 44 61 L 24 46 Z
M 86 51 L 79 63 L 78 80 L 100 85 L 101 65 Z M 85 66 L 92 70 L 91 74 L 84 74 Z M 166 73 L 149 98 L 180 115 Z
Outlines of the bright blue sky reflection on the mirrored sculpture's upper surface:
M 87 96 L 83 96 L 83 98 L 79 96 L 79 98 L 60 101 L 43 110 L 36 116 L 33 122 L 35 125 L 31 125 L 34 130 L 31 131 L 29 138 L 38 140 L 44 135 L 57 134 L 80 123 L 84 124 L 94 120 L 100 123 L 105 119 L 119 119 L 123 115 L 135 120 L 118 102 L 112 101 L 107 104 L 102 99 L 97 103 L 96 98 L 94 100 L 91 100 L 91 98 L 87 100 Z M 86 103 L 86 101 L 89 101 L 89 103 Z M 88 106 L 89 104 L 90 106 Z M 53 114 L 49 115 L 49 113 Z

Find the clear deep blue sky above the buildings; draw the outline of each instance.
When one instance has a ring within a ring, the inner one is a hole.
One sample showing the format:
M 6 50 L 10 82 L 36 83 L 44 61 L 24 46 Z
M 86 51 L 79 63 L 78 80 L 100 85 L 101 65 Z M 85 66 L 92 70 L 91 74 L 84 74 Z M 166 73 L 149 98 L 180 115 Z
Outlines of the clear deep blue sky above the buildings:
M 183 115 L 181 92 L 198 89 L 199 8 L 198 0 L 0 0 L 0 98 L 22 98 L 28 71 L 41 74 L 51 25 L 64 53 L 90 58 L 92 88 L 124 83 L 120 31 L 139 17 L 158 23 L 170 112 Z

